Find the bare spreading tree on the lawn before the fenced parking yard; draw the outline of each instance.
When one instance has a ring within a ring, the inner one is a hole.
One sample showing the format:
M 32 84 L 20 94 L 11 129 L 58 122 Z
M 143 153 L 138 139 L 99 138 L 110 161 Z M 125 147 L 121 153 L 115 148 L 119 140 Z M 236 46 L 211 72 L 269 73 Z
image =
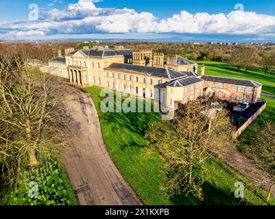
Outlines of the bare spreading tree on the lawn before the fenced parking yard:
M 215 116 L 211 117 L 209 112 L 213 110 L 200 103 L 187 103 L 174 120 L 153 123 L 145 134 L 147 146 L 156 151 L 163 162 L 164 190 L 169 196 L 191 193 L 203 199 L 206 162 L 212 156 L 209 151 L 232 138 L 226 110 L 215 110 Z

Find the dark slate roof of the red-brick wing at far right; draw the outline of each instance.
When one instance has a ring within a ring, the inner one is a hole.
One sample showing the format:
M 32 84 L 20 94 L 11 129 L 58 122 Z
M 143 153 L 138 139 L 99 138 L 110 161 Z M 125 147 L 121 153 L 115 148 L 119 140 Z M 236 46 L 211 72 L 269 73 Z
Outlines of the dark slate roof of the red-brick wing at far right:
M 217 77 L 217 76 L 211 76 L 211 75 L 204 75 L 202 76 L 202 79 L 204 79 L 205 81 L 230 83 L 230 84 L 248 86 L 253 88 L 259 88 L 260 86 L 262 86 L 261 83 L 258 83 L 256 81 L 252 81 L 248 79 L 238 79 L 238 78 L 232 78 L 232 77 Z

